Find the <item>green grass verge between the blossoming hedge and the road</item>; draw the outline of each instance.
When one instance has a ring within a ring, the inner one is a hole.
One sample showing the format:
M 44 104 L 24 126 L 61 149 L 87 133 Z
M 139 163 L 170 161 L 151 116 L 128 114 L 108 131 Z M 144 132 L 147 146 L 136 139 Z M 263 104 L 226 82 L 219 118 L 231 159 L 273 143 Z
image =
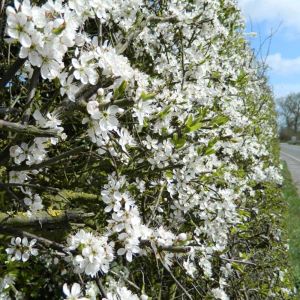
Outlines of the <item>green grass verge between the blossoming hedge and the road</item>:
M 287 230 L 289 258 L 297 290 L 300 289 L 300 196 L 293 184 L 291 174 L 283 162 L 283 195 L 288 203 Z

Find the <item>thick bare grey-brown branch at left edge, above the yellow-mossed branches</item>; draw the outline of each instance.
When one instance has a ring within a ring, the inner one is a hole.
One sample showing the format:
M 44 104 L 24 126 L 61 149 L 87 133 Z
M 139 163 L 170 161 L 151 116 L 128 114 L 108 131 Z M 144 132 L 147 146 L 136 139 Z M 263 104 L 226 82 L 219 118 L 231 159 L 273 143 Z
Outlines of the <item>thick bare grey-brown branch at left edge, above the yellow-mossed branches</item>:
M 0 120 L 0 131 L 12 131 L 20 134 L 28 134 L 39 137 L 58 137 L 59 132 L 55 129 L 40 129 L 33 125 L 22 125 L 19 123 Z

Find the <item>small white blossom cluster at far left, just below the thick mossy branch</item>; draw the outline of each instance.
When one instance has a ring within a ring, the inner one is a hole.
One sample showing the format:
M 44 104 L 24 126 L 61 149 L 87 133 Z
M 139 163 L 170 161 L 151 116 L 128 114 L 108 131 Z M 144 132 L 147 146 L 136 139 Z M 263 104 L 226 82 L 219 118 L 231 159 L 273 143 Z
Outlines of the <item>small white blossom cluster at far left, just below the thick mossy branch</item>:
M 37 256 L 38 250 L 33 248 L 36 243 L 36 239 L 33 239 L 28 243 L 27 237 L 21 239 L 20 237 L 12 238 L 10 247 L 6 248 L 6 253 L 12 257 L 12 260 L 22 260 L 26 262 L 30 255 Z

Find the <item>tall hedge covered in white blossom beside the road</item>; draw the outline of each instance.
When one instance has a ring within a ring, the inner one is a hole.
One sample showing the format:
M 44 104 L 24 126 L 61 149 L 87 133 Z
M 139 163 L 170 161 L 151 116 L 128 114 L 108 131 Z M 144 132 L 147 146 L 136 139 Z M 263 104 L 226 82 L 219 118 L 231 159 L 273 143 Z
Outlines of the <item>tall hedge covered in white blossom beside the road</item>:
M 274 104 L 235 1 L 7 2 L 1 299 L 290 298 Z

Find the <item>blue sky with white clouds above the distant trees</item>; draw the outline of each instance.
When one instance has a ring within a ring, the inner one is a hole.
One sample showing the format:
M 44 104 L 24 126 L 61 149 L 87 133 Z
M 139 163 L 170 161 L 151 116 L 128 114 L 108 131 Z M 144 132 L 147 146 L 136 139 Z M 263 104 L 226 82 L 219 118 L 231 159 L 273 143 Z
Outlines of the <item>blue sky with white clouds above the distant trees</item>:
M 267 39 L 258 57 L 269 65 L 275 96 L 300 92 L 300 0 L 237 1 L 247 21 L 246 31 L 257 33 L 250 38 L 256 52 Z

